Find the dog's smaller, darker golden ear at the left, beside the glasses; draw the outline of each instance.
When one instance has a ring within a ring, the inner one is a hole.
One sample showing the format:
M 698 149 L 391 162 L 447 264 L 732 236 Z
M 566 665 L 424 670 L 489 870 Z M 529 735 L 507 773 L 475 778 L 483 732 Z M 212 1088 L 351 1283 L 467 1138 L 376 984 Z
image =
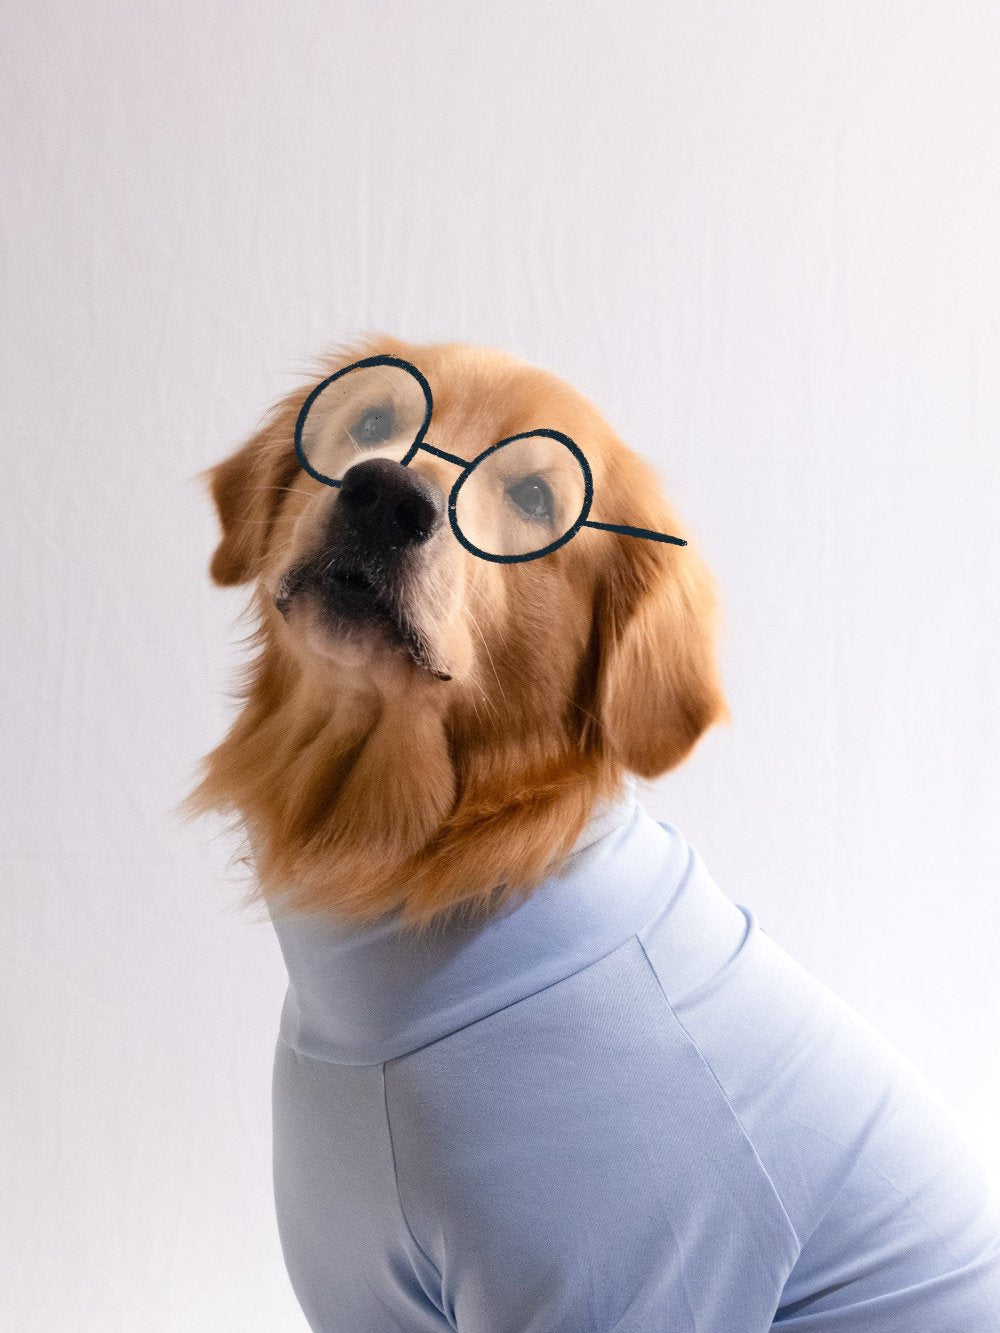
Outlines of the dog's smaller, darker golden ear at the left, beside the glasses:
M 289 395 L 236 453 L 197 475 L 215 501 L 223 540 L 209 573 L 221 588 L 249 583 L 260 572 L 284 489 L 299 471 L 295 417 L 301 393 Z

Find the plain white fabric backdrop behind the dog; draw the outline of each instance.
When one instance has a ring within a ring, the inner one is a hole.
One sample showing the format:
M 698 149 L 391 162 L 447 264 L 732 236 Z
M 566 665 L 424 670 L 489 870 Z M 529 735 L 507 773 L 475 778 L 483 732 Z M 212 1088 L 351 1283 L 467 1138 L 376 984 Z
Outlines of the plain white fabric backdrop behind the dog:
M 0 1324 L 301 1333 L 193 473 L 369 329 L 657 464 L 733 725 L 640 786 L 1000 1181 L 1000 7 L 5 0 Z

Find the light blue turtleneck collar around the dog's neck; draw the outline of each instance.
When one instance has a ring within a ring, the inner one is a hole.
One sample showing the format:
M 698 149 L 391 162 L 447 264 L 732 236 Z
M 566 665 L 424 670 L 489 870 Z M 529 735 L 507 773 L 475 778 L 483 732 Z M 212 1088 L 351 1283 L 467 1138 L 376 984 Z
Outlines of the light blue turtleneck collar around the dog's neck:
M 417 940 L 399 912 L 361 929 L 273 916 L 288 969 L 281 1038 L 373 1065 L 523 1000 L 624 944 L 688 866 L 687 842 L 637 804 L 635 780 L 595 808 L 559 872 L 483 925 Z

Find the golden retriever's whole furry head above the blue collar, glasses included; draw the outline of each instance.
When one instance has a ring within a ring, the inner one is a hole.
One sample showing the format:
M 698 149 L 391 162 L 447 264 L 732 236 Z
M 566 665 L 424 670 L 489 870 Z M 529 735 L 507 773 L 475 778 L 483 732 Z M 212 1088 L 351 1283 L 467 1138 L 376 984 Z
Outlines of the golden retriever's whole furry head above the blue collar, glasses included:
M 601 531 L 687 540 L 556 376 L 388 337 L 323 369 L 203 473 L 260 653 L 184 805 L 237 812 L 272 909 L 420 930 L 537 885 L 728 718 L 716 597 L 689 543 Z

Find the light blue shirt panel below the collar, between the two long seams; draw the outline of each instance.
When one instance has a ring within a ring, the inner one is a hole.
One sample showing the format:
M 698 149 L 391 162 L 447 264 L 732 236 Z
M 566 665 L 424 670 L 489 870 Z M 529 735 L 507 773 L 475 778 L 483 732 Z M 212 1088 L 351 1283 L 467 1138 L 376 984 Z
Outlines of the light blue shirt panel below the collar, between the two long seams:
M 635 937 L 384 1073 L 460 1333 L 771 1328 L 795 1229 Z

